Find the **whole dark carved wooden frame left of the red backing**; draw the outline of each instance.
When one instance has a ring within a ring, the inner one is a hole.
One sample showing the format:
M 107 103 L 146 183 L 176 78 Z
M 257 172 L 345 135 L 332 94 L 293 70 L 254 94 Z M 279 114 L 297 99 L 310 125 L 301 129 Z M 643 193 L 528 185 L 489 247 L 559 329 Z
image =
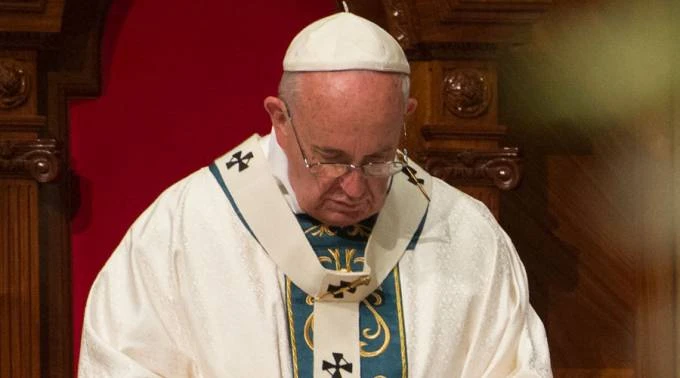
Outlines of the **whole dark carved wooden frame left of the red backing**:
M 99 91 L 107 0 L 0 0 L 0 377 L 73 375 L 68 97 Z

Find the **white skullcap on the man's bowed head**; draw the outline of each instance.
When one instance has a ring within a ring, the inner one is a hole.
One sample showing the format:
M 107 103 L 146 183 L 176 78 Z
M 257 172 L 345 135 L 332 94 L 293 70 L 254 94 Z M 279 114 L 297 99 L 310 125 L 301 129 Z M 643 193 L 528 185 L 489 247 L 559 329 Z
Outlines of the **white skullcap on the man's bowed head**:
M 302 29 L 288 46 L 283 70 L 411 72 L 404 50 L 388 32 L 349 12 Z

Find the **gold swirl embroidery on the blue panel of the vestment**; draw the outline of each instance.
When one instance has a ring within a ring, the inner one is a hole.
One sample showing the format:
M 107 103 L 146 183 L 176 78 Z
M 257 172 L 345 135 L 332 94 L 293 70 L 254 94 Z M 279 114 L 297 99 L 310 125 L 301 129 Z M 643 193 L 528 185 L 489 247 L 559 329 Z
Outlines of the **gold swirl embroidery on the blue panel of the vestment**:
M 357 252 L 356 249 L 354 248 L 345 249 L 344 259 L 341 258 L 340 256 L 341 255 L 340 248 L 328 248 L 327 251 L 330 256 L 319 256 L 319 261 L 321 263 L 334 264 L 335 270 L 338 271 L 344 270 L 346 272 L 352 272 L 352 263 L 354 264 L 365 263 L 366 261 L 364 257 L 354 257 Z M 371 298 L 373 303 L 369 301 L 369 298 Z M 314 298 L 311 295 L 308 295 L 307 298 L 305 299 L 305 302 L 309 306 L 313 306 Z M 382 336 L 383 342 L 377 349 L 367 350 L 366 346 L 368 346 L 369 342 L 360 340 L 359 341 L 359 345 L 361 346 L 360 355 L 361 357 L 376 357 L 385 352 L 385 350 L 390 344 L 390 340 L 392 339 L 392 334 L 390 332 L 390 328 L 387 326 L 387 322 L 375 309 L 375 307 L 380 306 L 382 304 L 383 298 L 377 292 L 373 292 L 368 297 L 366 297 L 366 299 L 362 300 L 362 302 L 366 306 L 366 308 L 368 308 L 368 311 L 370 311 L 371 315 L 373 315 L 373 320 L 375 321 L 375 329 L 370 327 L 364 328 L 363 330 L 361 330 L 361 335 L 366 340 L 369 341 L 378 340 Z M 303 332 L 305 336 L 305 343 L 307 344 L 310 350 L 314 350 L 314 342 L 312 341 L 313 329 L 314 329 L 314 314 L 312 313 L 309 314 L 307 320 L 305 321 L 305 327 Z

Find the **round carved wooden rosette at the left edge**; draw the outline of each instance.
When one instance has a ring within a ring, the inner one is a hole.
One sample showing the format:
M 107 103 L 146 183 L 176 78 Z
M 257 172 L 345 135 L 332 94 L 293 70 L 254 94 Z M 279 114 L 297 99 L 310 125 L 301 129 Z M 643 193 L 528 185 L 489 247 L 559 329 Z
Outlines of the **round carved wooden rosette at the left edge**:
M 28 99 L 30 90 L 31 78 L 24 64 L 0 59 L 0 110 L 19 107 Z

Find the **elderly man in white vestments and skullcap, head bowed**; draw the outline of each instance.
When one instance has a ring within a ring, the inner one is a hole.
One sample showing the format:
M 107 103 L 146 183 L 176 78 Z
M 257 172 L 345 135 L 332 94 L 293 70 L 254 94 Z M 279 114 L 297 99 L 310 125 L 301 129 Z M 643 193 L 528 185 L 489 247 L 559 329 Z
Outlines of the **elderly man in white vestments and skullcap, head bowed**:
M 397 42 L 339 13 L 284 71 L 272 133 L 168 189 L 107 262 L 80 375 L 551 376 L 508 237 L 397 150 Z

